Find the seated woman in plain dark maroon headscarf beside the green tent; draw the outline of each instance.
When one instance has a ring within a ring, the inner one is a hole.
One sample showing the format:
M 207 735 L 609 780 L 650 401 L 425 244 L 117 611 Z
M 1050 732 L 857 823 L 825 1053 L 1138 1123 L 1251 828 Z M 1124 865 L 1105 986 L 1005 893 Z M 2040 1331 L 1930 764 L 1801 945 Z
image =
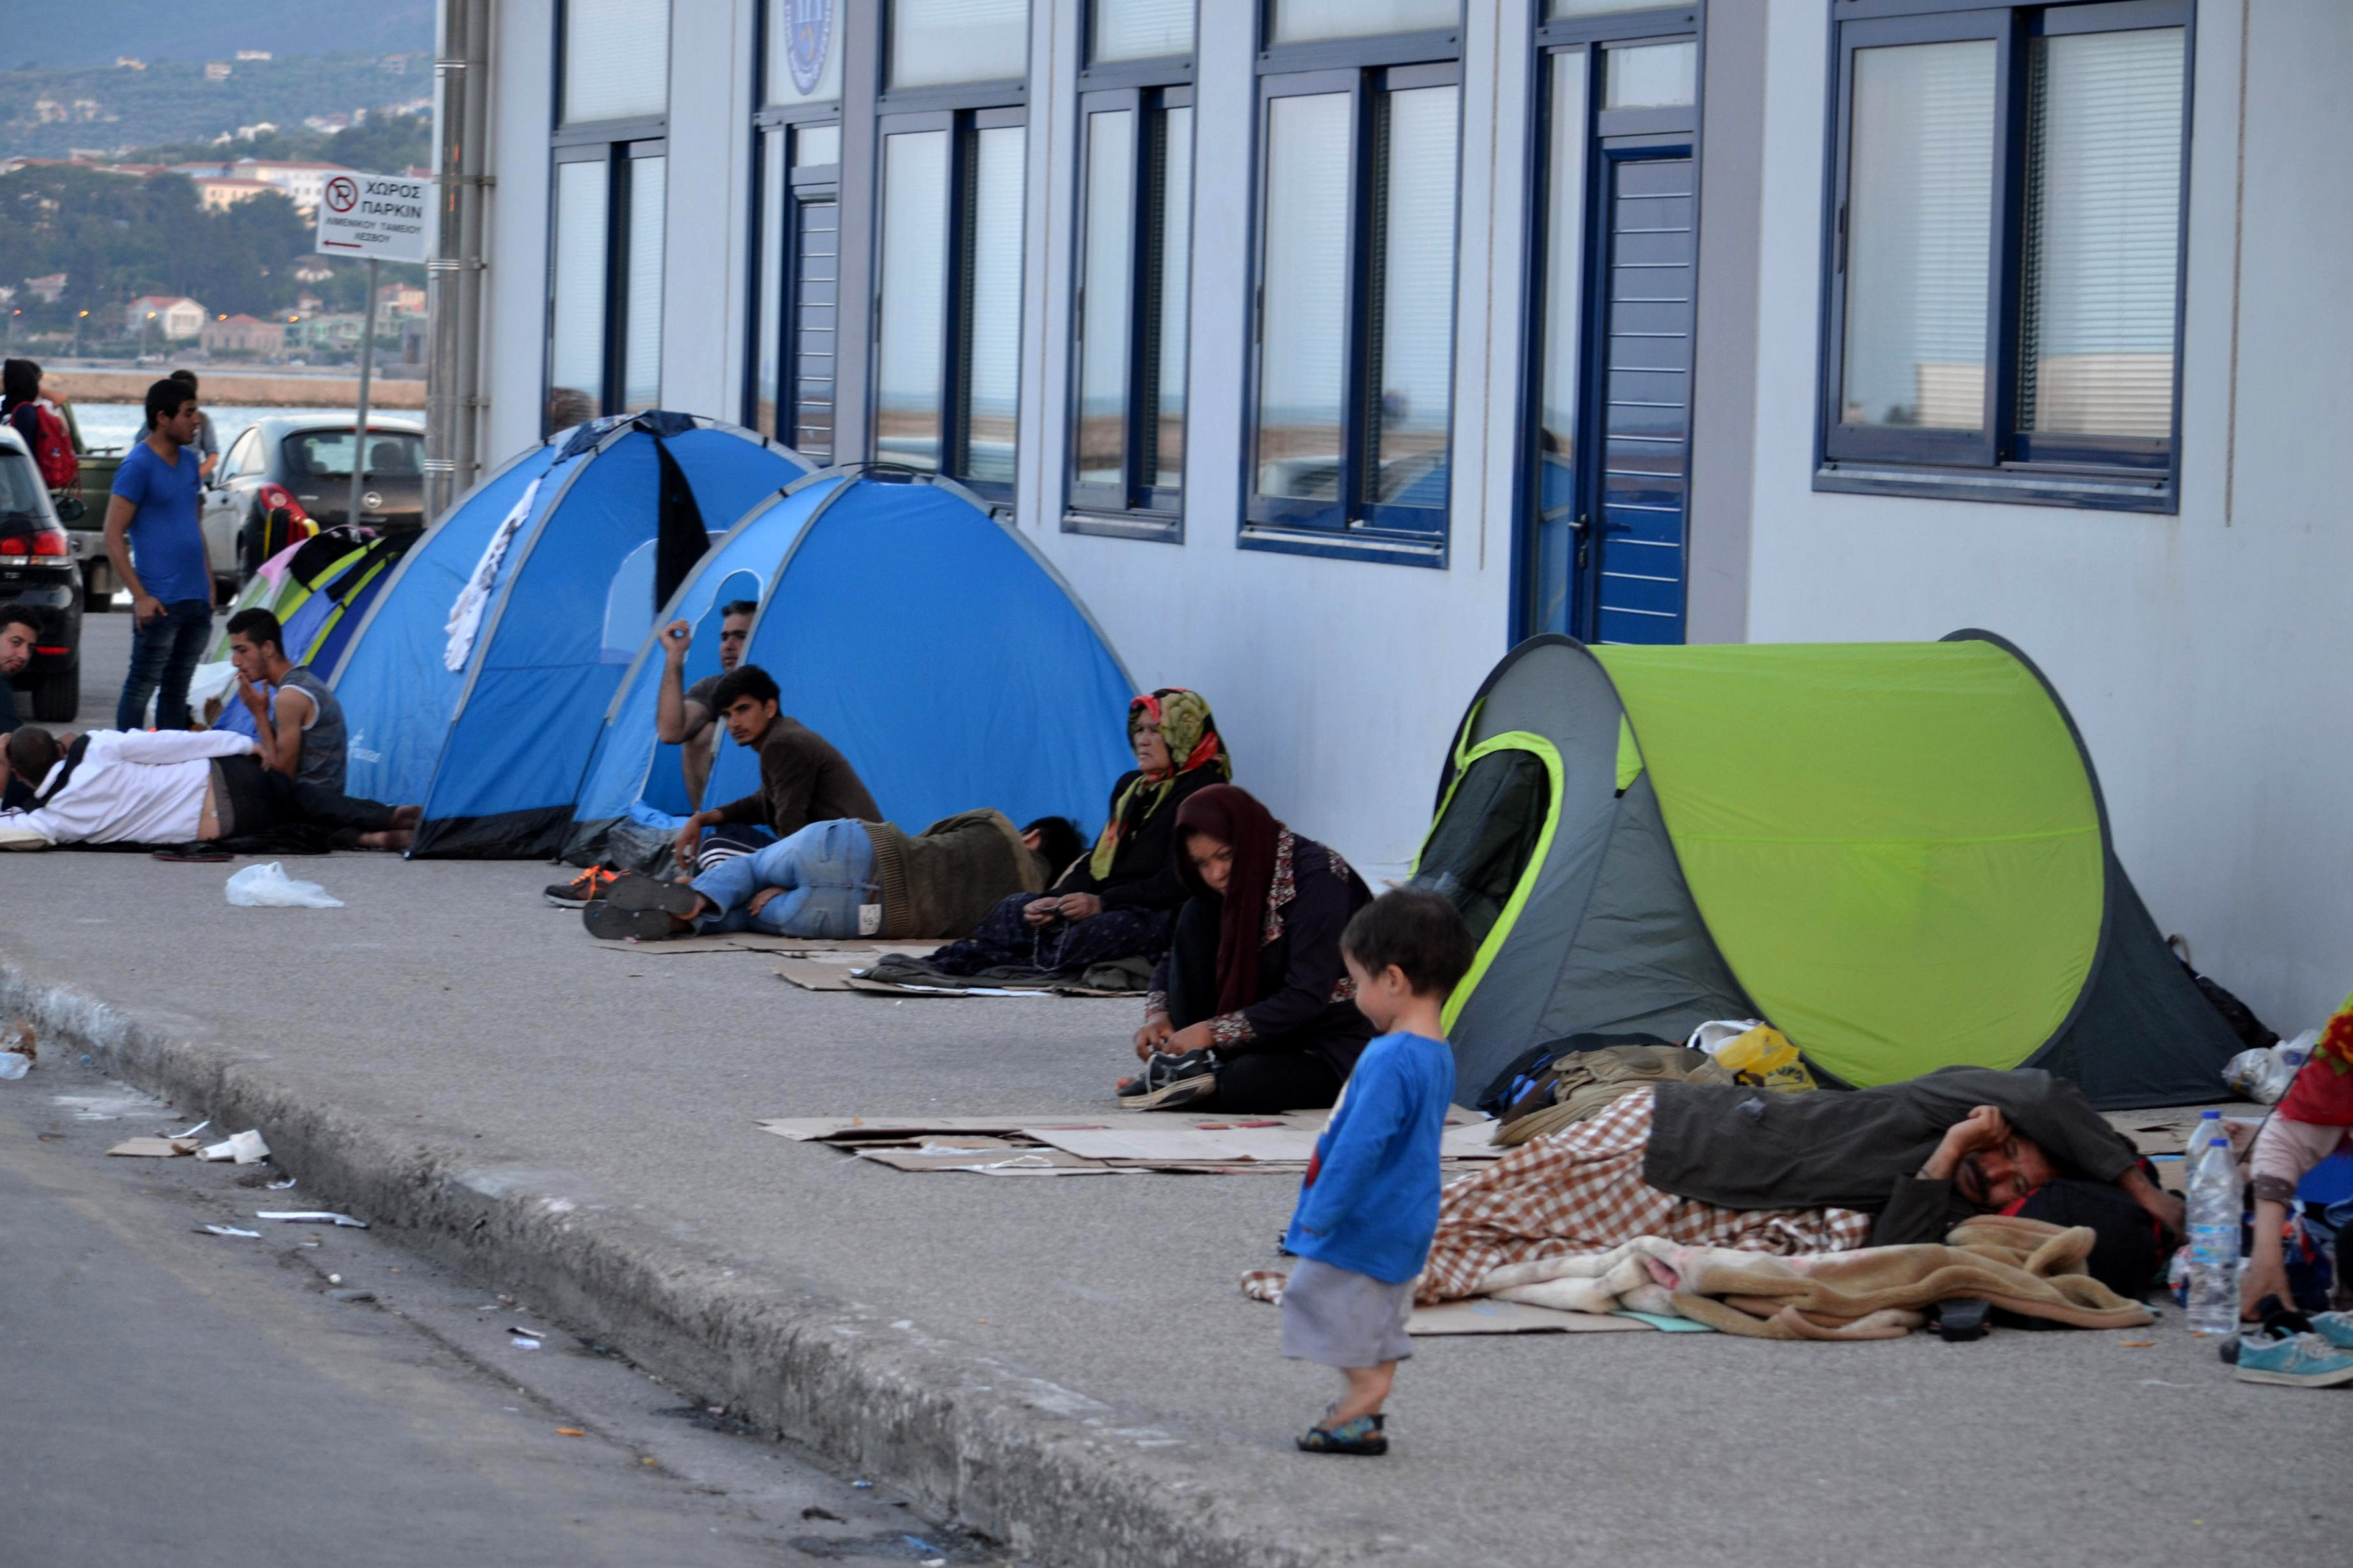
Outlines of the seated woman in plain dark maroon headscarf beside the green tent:
M 1209 785 L 1176 809 L 1176 910 L 1136 1030 L 1136 1110 L 1233 1114 L 1332 1105 L 1372 1023 L 1339 957 L 1372 903 L 1339 853 L 1301 839 L 1247 790 Z

